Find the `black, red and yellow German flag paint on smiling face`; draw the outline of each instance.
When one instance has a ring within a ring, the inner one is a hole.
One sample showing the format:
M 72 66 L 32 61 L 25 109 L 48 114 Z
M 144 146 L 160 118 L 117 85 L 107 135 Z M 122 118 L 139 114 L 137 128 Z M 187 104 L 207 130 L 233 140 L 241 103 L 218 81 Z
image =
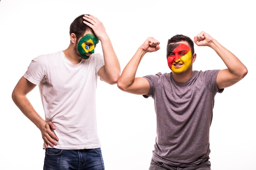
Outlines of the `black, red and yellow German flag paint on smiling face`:
M 186 44 L 169 44 L 166 56 L 168 66 L 174 73 L 182 73 L 192 64 L 192 53 Z

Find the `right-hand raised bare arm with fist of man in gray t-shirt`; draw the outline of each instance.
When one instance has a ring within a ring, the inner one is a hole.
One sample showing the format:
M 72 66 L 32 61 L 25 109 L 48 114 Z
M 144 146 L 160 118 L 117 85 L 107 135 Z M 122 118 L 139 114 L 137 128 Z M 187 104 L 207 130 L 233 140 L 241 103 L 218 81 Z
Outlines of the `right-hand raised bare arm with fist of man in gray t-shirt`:
M 227 66 L 226 69 L 221 70 L 217 75 L 216 81 L 219 89 L 232 86 L 247 75 L 247 68 L 245 65 L 209 34 L 202 31 L 195 36 L 194 42 L 198 46 L 211 47 Z

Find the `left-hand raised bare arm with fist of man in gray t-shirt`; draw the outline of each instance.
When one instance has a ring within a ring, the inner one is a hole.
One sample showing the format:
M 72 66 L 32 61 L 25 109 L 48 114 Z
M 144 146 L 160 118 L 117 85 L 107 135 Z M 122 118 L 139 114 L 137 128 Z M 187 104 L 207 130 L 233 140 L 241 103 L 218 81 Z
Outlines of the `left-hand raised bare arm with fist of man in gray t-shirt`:
M 149 37 L 136 51 L 130 62 L 124 68 L 117 86 L 122 91 L 137 95 L 147 95 L 149 92 L 149 83 L 143 77 L 135 78 L 140 61 L 147 52 L 153 52 L 160 49 L 159 42 L 155 38 Z

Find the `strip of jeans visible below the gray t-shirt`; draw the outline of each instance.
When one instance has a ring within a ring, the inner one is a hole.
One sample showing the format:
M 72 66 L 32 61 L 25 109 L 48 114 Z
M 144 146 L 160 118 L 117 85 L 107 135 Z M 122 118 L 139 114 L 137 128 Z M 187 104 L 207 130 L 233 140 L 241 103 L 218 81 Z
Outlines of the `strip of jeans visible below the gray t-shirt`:
M 151 159 L 149 170 L 211 170 L 211 162 L 207 160 L 199 163 L 198 165 L 180 168 L 175 166 L 168 166 L 165 163 Z

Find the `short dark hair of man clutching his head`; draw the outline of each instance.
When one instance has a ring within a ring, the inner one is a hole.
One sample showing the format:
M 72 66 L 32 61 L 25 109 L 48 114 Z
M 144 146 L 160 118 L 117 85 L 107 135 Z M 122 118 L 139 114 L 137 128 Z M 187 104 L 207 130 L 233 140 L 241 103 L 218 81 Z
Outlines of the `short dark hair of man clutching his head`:
M 94 34 L 92 28 L 83 23 L 83 21 L 86 21 L 83 19 L 83 16 L 84 14 L 76 17 L 76 19 L 70 24 L 70 34 L 74 33 L 77 39 L 82 37 L 87 30 L 91 31 Z

